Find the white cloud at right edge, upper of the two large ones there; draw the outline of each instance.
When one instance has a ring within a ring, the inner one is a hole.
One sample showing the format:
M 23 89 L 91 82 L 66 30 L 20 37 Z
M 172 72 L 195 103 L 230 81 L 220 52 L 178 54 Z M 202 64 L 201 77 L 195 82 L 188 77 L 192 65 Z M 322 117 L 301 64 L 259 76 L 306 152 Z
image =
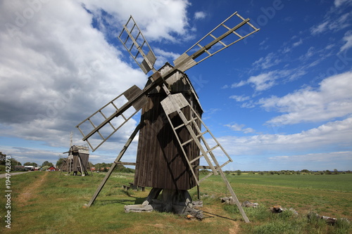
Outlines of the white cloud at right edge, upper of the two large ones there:
M 345 117 L 352 114 L 352 72 L 324 79 L 319 89 L 300 89 L 279 98 L 262 98 L 258 104 L 267 110 L 287 114 L 279 115 L 268 124 L 297 124 Z

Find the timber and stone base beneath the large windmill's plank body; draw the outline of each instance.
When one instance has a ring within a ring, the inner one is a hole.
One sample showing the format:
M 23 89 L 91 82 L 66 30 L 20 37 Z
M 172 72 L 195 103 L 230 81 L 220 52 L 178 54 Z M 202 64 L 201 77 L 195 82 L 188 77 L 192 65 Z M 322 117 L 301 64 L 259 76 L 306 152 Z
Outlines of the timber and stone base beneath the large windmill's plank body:
M 157 197 L 161 193 L 161 190 L 163 190 L 162 200 L 158 200 Z M 195 209 L 202 206 L 202 201 L 191 201 L 191 195 L 189 195 L 187 190 L 152 188 L 143 204 L 126 205 L 125 212 L 152 212 L 155 210 L 203 219 L 203 211 Z

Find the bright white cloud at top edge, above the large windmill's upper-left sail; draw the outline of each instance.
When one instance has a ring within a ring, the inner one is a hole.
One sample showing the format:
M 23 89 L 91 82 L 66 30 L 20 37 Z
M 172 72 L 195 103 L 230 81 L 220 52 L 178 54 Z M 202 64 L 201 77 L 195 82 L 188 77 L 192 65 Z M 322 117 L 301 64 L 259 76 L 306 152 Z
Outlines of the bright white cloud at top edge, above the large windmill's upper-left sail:
M 80 2 L 94 15 L 100 15 L 101 9 L 110 13 L 118 25 L 125 24 L 132 15 L 149 41 L 167 39 L 177 42 L 182 37 L 175 37 L 173 33 L 177 35 L 187 33 L 189 2 L 185 0 L 82 0 Z

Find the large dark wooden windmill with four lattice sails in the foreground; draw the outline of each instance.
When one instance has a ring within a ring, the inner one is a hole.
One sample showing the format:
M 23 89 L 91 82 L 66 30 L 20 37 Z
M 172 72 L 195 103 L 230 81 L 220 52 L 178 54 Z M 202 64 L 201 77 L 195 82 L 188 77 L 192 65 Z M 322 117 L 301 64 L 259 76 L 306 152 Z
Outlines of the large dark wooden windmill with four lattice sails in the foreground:
M 130 17 L 118 38 L 139 67 L 146 74 L 150 71 L 153 74 L 144 89 L 132 86 L 77 125 L 83 141 L 87 141 L 94 151 L 142 109 L 141 122 L 87 204 L 88 207 L 99 195 L 115 165 L 124 164 L 120 162 L 122 155 L 139 131 L 134 184 L 152 188 L 144 206 L 151 204 L 161 191 L 163 210 L 170 211 L 173 204 L 180 204 L 177 200 L 180 197 L 187 206 L 191 200 L 187 190 L 199 186 L 208 176 L 220 174 L 244 220 L 249 222 L 222 172 L 222 167 L 232 160 L 201 120 L 203 110 L 184 72 L 257 31 L 249 19 L 235 12 L 173 61 L 173 65 L 166 63 L 156 70 L 156 56 Z M 225 156 L 226 162 L 219 164 L 215 152 Z M 199 162 L 206 162 L 206 165 L 201 166 Z M 210 172 L 199 179 L 199 169 L 210 169 Z

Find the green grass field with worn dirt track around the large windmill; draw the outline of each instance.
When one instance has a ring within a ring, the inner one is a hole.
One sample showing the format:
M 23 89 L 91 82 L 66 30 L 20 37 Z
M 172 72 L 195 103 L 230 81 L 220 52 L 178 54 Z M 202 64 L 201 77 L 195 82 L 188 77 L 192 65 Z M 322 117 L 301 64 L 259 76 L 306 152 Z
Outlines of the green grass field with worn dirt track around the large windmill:
M 351 224 L 329 226 L 308 221 L 306 214 L 352 220 L 352 174 L 339 175 L 228 175 L 241 202 L 258 202 L 245 208 L 251 223 L 244 223 L 237 207 L 220 203 L 229 196 L 220 176 L 201 184 L 203 221 L 159 212 L 124 213 L 125 204 L 141 204 L 145 192 L 125 191 L 132 174 L 113 174 L 90 208 L 89 202 L 103 174 L 60 176 L 59 172 L 34 171 L 11 177 L 11 229 L 5 227 L 6 199 L 0 198 L 1 233 L 349 233 Z M 5 179 L 0 179 L 5 189 Z M 190 190 L 196 200 L 196 189 Z M 294 208 L 271 214 L 269 207 Z

